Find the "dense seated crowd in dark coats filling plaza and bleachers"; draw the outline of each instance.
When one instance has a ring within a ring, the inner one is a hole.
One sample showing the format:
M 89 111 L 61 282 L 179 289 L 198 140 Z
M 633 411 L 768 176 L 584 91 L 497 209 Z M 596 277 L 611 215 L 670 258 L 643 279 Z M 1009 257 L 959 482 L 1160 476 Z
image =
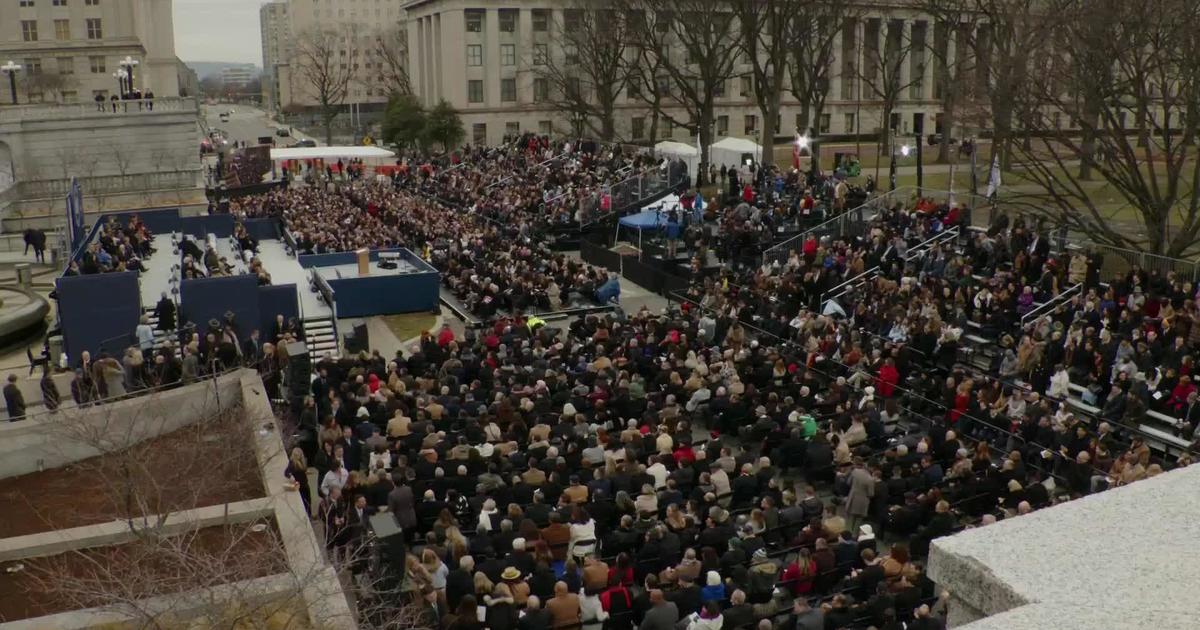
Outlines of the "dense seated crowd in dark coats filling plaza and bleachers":
M 847 192 L 726 174 L 695 245 L 732 247 L 731 264 L 676 306 L 565 328 L 523 316 L 607 301 L 616 278 L 547 234 L 642 166 L 526 137 L 234 203 L 278 217 L 300 252 L 408 247 L 487 319 L 395 356 L 325 358 L 294 409 L 284 474 L 317 500 L 330 558 L 360 576 L 373 551 L 403 566 L 365 599 L 445 630 L 937 629 L 934 539 L 1190 463 L 1152 452 L 1139 422 L 1160 410 L 1189 440 L 1200 424 L 1196 288 L 1136 268 L 1104 283 L 1097 254 L 1021 220 L 971 230 L 959 205 L 881 208 L 762 262 L 780 221 L 817 197 L 842 211 Z M 110 241 L 136 251 L 139 234 Z M 184 361 L 254 358 L 281 392 L 272 343 L 299 331 L 281 322 L 259 354 L 212 324 Z M 976 335 L 1000 348 L 986 368 Z M 398 557 L 372 541 L 379 511 L 402 528 Z

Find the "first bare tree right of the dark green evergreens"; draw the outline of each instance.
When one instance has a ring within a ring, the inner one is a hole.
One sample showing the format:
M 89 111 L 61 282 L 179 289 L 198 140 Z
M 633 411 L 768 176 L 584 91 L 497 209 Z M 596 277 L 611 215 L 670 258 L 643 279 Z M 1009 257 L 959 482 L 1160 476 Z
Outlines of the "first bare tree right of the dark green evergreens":
M 553 29 L 554 53 L 535 53 L 532 64 L 546 82 L 548 102 L 607 142 L 617 137 L 617 101 L 630 82 L 626 22 L 613 8 L 566 8 Z

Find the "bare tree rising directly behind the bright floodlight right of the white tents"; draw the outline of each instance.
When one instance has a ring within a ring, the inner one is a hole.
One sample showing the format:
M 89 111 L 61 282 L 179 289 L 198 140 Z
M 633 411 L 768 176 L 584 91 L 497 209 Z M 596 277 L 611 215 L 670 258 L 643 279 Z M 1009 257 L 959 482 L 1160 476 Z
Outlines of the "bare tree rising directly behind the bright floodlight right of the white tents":
M 803 5 L 796 7 L 791 28 L 786 32 L 788 47 L 785 54 L 791 58 L 790 89 L 800 103 L 797 127 L 809 130 L 812 163 L 816 166 L 820 162 L 817 138 L 821 133 L 821 115 L 833 82 L 844 72 L 834 66 L 838 58 L 834 43 L 839 34 L 856 29 L 862 10 L 838 0 L 804 0 Z M 847 74 L 857 78 L 856 66 L 851 65 L 847 70 L 851 70 Z M 862 97 L 860 94 L 854 94 L 842 95 L 842 98 L 851 96 Z M 858 121 L 854 124 L 858 125 Z

